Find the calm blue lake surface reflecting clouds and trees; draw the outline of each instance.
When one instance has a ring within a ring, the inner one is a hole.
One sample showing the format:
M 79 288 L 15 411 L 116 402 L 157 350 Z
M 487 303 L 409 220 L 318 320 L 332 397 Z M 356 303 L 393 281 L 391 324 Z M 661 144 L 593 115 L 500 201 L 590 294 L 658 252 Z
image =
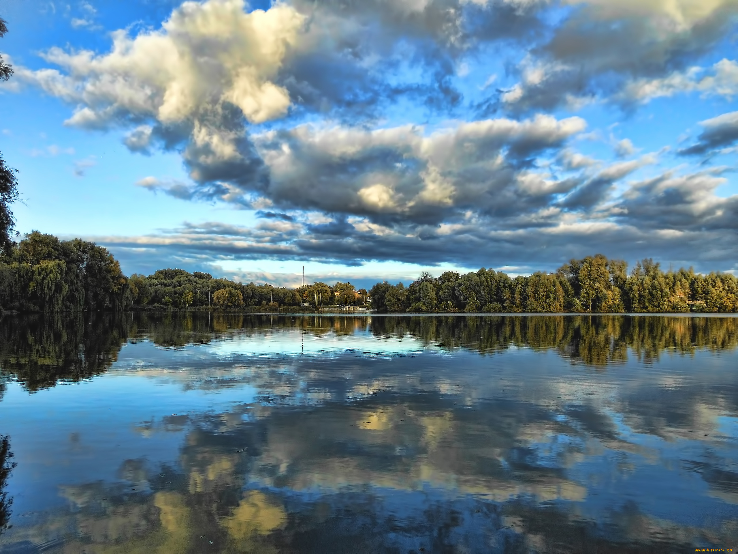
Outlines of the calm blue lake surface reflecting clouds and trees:
M 731 317 L 5 317 L 0 553 L 735 548 L 737 347 Z

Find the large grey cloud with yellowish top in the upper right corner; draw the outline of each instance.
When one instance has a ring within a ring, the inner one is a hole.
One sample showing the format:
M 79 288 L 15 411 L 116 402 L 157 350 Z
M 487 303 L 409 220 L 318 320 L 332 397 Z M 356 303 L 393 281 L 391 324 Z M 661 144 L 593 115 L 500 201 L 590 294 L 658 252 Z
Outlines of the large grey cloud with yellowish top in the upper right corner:
M 517 69 L 520 82 L 501 93 L 504 109 L 576 107 L 597 98 L 644 102 L 692 90 L 734 94 L 733 61 L 700 80 L 701 69 L 690 69 L 733 28 L 734 0 L 567 3 L 573 12 L 550 40 L 530 49 Z

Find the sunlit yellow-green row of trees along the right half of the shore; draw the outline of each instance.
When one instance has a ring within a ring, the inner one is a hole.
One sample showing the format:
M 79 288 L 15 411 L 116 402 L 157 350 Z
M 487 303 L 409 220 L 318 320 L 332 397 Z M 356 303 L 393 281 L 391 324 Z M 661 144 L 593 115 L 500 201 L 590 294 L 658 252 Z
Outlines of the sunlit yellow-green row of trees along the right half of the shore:
M 738 312 L 738 279 L 692 269 L 664 273 L 652 259 L 628 276 L 625 261 L 597 254 L 527 277 L 484 268 L 463 276 L 423 273 L 407 288 L 378 283 L 370 296 L 379 312 Z

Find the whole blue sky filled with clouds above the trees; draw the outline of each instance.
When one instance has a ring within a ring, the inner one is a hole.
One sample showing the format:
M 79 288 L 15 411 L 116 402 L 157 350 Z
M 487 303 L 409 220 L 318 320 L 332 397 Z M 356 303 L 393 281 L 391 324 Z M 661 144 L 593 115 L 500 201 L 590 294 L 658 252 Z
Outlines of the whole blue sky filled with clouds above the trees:
M 20 233 L 283 286 L 738 274 L 738 0 L 0 0 Z

